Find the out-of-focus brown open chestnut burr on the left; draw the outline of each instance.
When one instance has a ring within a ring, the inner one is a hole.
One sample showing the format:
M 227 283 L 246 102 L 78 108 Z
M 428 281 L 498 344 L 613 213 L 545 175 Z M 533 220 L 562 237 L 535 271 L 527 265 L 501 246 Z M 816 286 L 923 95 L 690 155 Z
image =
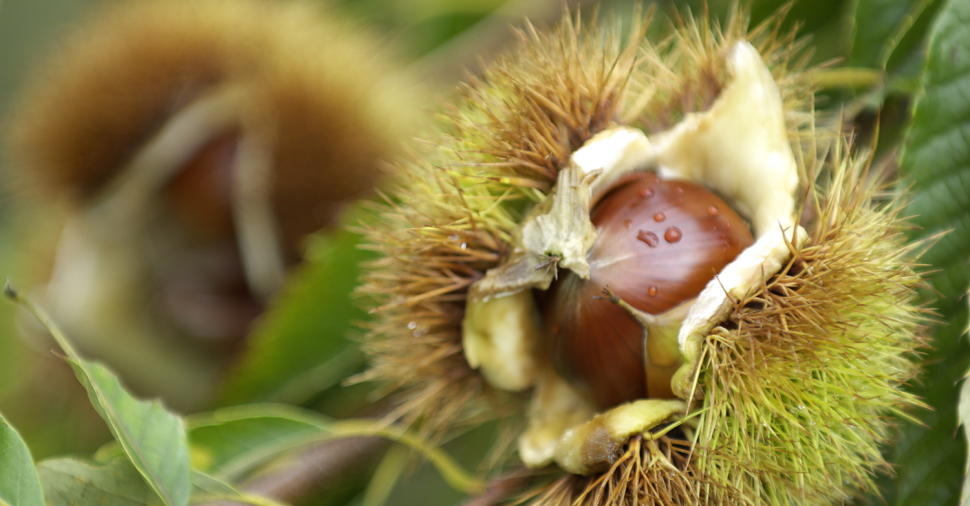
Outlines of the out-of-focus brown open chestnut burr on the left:
M 304 239 L 394 155 L 413 87 L 335 17 L 112 4 L 27 83 L 9 121 L 17 168 L 38 202 L 71 202 L 44 298 L 136 387 L 204 401 Z

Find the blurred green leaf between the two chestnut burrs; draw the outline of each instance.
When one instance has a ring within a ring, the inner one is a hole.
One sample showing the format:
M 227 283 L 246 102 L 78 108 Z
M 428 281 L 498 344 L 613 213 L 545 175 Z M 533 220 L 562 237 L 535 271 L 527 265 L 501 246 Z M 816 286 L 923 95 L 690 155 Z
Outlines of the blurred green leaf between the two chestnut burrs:
M 312 239 L 307 260 L 250 336 L 250 349 L 224 388 L 225 404 L 306 402 L 357 371 L 363 358 L 349 339 L 366 314 L 351 293 L 360 236 L 345 230 Z

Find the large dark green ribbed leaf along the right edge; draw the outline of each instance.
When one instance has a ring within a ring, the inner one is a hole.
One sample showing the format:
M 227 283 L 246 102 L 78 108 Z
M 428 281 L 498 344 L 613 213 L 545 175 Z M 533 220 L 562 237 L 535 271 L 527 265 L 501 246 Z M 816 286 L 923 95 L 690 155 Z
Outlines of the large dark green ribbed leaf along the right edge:
M 968 318 L 962 298 L 970 285 L 970 2 L 950 0 L 939 11 L 901 157 L 904 184 L 913 188 L 909 212 L 919 237 L 948 232 L 923 257 L 936 272 L 927 300 L 941 324 L 914 390 L 933 407 L 925 426 L 907 425 L 891 458 L 897 479 L 883 490 L 889 504 L 955 504 L 965 443 L 956 421 L 958 381 L 967 370 L 960 338 Z

